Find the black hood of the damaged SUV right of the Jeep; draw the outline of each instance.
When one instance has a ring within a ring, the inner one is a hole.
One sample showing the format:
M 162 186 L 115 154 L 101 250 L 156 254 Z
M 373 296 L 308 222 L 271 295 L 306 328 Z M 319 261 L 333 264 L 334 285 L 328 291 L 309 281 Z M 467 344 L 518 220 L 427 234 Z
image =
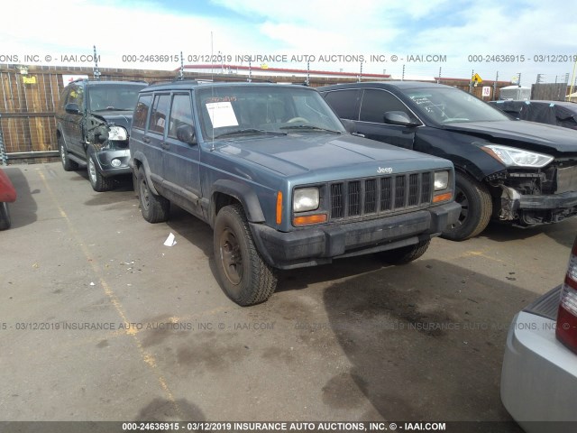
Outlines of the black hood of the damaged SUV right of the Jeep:
M 449 124 L 444 125 L 443 129 L 534 152 L 577 154 L 577 134 L 570 129 L 551 124 L 504 120 Z

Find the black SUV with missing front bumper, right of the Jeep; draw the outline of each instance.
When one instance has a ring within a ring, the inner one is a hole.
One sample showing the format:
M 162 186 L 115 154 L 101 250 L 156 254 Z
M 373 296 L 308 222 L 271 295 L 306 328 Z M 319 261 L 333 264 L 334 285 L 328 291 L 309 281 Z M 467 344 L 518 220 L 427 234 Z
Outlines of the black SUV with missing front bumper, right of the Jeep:
M 435 83 L 363 82 L 318 88 L 353 131 L 453 161 L 459 220 L 447 239 L 479 235 L 491 218 L 537 226 L 577 217 L 577 134 L 512 120 L 477 97 Z

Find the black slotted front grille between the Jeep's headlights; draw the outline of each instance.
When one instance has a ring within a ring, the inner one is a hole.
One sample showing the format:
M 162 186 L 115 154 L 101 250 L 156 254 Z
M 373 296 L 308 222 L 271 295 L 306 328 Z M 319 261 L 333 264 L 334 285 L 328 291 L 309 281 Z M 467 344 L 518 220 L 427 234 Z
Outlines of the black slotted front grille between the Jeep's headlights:
M 433 197 L 433 172 L 343 180 L 330 185 L 331 218 L 356 218 L 426 207 Z

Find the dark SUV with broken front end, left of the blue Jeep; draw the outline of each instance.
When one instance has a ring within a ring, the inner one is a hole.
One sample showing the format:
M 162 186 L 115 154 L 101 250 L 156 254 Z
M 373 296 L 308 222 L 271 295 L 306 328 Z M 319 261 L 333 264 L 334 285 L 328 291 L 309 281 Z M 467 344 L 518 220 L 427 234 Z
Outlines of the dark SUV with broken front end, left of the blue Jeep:
M 134 81 L 78 79 L 64 88 L 56 113 L 64 170 L 87 167 L 95 191 L 113 189 L 114 176 L 130 174 L 128 132 L 138 92 Z

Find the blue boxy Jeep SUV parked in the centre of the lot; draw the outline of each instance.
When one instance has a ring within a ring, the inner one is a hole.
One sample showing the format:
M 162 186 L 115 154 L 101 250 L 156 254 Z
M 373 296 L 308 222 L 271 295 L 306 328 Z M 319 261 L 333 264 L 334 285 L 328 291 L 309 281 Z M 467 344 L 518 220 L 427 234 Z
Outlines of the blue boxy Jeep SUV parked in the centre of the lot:
M 450 161 L 348 134 L 313 88 L 143 88 L 130 152 L 142 217 L 165 221 L 173 202 L 212 226 L 216 276 L 240 305 L 269 298 L 275 268 L 415 260 L 460 212 Z

